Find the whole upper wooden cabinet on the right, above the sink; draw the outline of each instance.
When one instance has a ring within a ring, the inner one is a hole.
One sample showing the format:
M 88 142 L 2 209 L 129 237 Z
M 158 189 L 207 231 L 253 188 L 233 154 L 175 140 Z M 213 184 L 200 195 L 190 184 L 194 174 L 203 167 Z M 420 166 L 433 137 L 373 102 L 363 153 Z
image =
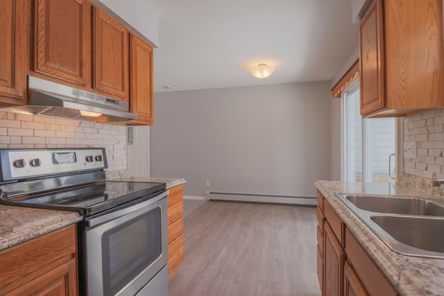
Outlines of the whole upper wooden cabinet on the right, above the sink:
M 359 27 L 361 114 L 444 107 L 441 0 L 374 0 Z

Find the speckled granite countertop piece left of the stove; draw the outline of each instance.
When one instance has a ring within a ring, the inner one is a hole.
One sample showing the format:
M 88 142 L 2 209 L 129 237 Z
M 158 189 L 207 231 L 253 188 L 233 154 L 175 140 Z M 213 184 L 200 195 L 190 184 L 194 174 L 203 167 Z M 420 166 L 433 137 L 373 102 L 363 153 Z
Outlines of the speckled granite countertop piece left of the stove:
M 0 250 L 82 220 L 77 212 L 0 204 Z

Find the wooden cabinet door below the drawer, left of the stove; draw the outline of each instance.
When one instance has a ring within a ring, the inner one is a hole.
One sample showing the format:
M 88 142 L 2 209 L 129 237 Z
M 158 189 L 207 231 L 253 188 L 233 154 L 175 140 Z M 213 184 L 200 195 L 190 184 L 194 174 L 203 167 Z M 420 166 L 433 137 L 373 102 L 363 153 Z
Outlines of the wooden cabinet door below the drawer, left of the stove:
M 6 296 L 76 296 L 77 272 L 76 259 L 63 263 L 62 265 L 46 272 L 44 275 L 29 281 L 28 283 L 6 293 Z

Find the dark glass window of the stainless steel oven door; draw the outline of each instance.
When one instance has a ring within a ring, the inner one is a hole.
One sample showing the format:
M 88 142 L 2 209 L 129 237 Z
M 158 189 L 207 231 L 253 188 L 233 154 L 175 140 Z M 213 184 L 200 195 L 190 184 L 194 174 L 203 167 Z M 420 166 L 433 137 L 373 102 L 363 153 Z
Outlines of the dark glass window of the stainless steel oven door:
M 102 236 L 103 292 L 115 295 L 162 254 L 160 208 Z

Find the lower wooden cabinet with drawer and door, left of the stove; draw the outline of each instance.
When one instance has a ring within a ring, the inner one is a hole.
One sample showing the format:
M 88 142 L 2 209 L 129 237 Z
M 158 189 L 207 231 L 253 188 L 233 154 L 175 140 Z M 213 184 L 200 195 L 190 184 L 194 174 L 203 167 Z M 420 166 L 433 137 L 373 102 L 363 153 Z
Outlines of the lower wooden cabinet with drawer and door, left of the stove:
M 1 250 L 0 270 L 0 295 L 78 295 L 76 225 Z

